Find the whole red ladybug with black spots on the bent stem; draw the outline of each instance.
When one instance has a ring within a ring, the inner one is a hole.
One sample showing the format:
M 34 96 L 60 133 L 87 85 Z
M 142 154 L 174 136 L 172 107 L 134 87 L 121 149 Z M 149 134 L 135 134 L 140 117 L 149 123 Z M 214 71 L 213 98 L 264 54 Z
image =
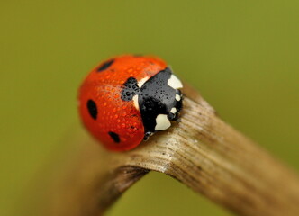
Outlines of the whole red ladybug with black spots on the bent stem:
M 79 88 L 79 113 L 105 148 L 130 150 L 167 130 L 182 110 L 183 85 L 165 61 L 124 55 L 95 67 Z

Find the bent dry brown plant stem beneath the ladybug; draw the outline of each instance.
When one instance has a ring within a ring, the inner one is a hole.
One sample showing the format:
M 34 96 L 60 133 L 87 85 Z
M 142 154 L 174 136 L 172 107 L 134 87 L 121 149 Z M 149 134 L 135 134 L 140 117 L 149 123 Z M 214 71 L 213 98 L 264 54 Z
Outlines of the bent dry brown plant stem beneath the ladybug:
M 50 215 L 101 215 L 149 170 L 165 173 L 239 215 L 299 215 L 299 181 L 185 88 L 180 123 L 134 150 L 83 143 L 55 175 Z M 42 214 L 42 215 L 45 215 Z

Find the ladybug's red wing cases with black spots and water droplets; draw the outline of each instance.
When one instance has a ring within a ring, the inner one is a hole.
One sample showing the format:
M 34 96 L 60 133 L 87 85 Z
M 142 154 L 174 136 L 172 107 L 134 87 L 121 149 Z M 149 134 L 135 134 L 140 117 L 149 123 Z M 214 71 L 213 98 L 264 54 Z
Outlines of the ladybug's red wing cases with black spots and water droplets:
M 121 98 L 129 77 L 140 81 L 155 76 L 167 64 L 156 57 L 125 55 L 95 67 L 79 88 L 79 113 L 86 129 L 105 148 L 114 151 L 137 147 L 144 138 L 140 111 Z

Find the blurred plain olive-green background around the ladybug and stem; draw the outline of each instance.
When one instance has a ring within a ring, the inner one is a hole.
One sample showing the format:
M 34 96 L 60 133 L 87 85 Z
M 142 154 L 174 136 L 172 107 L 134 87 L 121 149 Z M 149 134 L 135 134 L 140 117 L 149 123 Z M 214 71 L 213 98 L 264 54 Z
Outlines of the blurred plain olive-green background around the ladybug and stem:
M 33 215 L 14 213 L 32 199 L 26 188 L 64 140 L 86 134 L 77 86 L 100 60 L 122 53 L 166 59 L 222 119 L 299 169 L 297 0 L 1 1 L 0 28 L 2 216 Z M 108 213 L 183 214 L 230 215 L 157 173 Z

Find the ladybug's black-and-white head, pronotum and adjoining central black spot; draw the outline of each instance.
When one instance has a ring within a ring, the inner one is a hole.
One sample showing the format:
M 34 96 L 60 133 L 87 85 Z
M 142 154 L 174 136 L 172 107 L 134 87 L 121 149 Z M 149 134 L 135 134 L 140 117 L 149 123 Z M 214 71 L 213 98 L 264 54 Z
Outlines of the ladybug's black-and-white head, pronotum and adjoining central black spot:
M 177 120 L 182 109 L 182 93 L 179 90 L 182 87 L 169 67 L 141 85 L 134 77 L 129 77 L 124 83 L 122 100 L 133 100 L 140 110 L 145 129 L 144 139 L 156 131 L 168 129 L 170 121 Z

